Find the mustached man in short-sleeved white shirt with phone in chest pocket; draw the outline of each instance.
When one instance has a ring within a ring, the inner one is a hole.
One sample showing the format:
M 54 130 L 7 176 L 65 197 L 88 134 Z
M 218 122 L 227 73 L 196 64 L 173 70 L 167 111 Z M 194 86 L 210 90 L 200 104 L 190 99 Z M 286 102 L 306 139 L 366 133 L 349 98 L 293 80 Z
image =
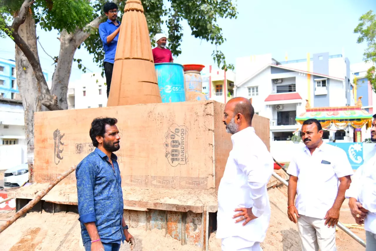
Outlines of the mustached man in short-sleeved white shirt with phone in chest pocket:
M 353 170 L 344 150 L 322 141 L 317 119 L 304 121 L 301 135 L 305 147 L 287 170 L 288 218 L 297 223 L 302 251 L 336 251 L 335 225 Z

